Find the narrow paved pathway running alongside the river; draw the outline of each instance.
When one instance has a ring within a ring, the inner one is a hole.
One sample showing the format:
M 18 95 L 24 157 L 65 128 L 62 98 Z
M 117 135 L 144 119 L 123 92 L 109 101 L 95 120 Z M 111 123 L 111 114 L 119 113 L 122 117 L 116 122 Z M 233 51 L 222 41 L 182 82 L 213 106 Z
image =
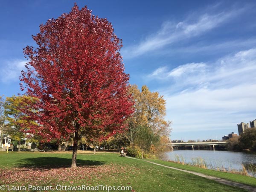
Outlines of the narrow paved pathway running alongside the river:
M 126 157 L 128 157 L 128 156 L 126 156 Z M 128 157 L 128 158 L 140 160 L 140 159 L 137 159 L 137 158 L 134 158 L 134 157 Z M 191 174 L 194 174 L 194 175 L 198 175 L 200 177 L 215 180 L 218 183 L 222 183 L 222 184 L 225 184 L 225 185 L 235 186 L 235 187 L 239 187 L 239 188 L 251 191 L 251 192 L 256 192 L 256 188 L 253 187 L 253 186 L 245 185 L 245 184 L 242 184 L 242 183 L 237 183 L 237 182 L 230 181 L 230 180 L 221 179 L 221 178 L 218 178 L 218 177 L 212 177 L 212 176 L 209 176 L 209 175 L 204 175 L 202 173 L 187 171 L 187 170 L 178 169 L 178 168 L 175 168 L 175 167 L 169 167 L 169 166 L 161 165 L 161 164 L 154 163 L 154 162 L 147 161 L 147 160 L 143 160 L 143 161 L 148 162 L 148 163 L 152 163 L 152 164 L 155 164 L 155 165 L 163 166 L 163 167 L 166 167 L 166 168 L 169 168 L 169 169 L 175 169 L 175 170 L 178 170 L 178 171 L 181 171 L 181 172 L 186 172 L 186 173 L 191 173 Z

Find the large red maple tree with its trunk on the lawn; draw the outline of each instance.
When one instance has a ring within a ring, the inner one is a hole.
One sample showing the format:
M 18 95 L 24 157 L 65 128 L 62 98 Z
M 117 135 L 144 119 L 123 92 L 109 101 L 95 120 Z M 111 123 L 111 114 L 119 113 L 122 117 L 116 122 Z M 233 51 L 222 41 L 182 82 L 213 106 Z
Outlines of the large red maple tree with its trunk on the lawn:
M 30 114 L 40 124 L 38 133 L 73 137 L 76 167 L 81 137 L 113 135 L 133 112 L 119 53 L 122 42 L 107 19 L 76 4 L 70 13 L 41 24 L 32 37 L 38 46 L 24 48 L 29 61 L 21 72 L 21 89 L 38 98 L 37 113 Z

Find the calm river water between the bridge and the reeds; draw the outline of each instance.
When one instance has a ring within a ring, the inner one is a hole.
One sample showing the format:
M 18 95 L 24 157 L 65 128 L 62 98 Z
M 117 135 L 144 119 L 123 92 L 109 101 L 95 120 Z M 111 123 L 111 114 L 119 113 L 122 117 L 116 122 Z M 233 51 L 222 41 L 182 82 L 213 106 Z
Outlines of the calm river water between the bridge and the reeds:
M 256 170 L 253 171 L 253 167 L 254 169 L 256 167 L 256 153 L 216 150 L 175 150 L 165 152 L 161 159 L 180 160 L 189 164 L 203 161 L 208 169 L 242 170 L 242 165 L 244 165 L 249 175 L 256 177 Z

